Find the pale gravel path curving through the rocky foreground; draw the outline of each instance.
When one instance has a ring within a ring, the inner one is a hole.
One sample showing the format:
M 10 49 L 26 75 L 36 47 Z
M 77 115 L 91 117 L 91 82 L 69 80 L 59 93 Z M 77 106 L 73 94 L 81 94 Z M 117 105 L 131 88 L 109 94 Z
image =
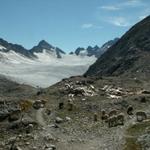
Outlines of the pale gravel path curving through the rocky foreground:
M 124 131 L 128 128 L 128 126 L 135 121 L 135 118 L 128 118 L 127 122 L 124 126 L 118 126 L 114 128 L 102 128 L 101 129 L 101 136 L 100 137 L 91 137 L 87 138 L 84 142 L 75 141 L 70 143 L 70 138 L 77 138 L 80 137 L 71 137 L 69 135 L 62 134 L 59 130 L 53 130 L 50 128 L 44 117 L 43 117 L 44 108 L 37 110 L 36 112 L 36 120 L 40 126 L 44 127 L 45 129 L 41 131 L 41 137 L 45 135 L 54 135 L 57 137 L 59 135 L 59 143 L 57 143 L 57 149 L 61 150 L 62 147 L 65 150 L 99 150 L 99 149 L 107 149 L 107 150 L 120 150 L 124 145 L 125 138 L 127 135 L 124 135 Z M 118 142 L 119 141 L 119 142 Z

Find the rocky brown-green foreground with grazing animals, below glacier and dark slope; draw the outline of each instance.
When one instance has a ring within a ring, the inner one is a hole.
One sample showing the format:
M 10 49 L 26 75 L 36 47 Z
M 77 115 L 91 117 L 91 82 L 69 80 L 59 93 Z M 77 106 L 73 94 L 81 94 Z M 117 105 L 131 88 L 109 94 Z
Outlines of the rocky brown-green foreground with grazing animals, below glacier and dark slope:
M 71 77 L 34 89 L 11 82 L 0 98 L 0 150 L 148 149 L 149 83 Z

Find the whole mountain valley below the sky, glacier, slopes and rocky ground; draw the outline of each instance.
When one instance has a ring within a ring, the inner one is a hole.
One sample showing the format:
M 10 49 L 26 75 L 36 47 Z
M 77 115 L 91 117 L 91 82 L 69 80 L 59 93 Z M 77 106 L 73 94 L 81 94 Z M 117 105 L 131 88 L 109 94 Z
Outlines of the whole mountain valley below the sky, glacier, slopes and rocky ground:
M 0 150 L 150 149 L 150 16 L 113 41 L 0 40 Z

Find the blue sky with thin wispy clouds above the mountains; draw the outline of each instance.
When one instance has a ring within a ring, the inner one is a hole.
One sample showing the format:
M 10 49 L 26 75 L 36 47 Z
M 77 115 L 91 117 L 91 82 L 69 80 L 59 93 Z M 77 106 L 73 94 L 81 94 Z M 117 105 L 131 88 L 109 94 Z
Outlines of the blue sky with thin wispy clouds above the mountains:
M 150 15 L 150 0 L 0 0 L 0 37 L 30 49 L 101 46 Z

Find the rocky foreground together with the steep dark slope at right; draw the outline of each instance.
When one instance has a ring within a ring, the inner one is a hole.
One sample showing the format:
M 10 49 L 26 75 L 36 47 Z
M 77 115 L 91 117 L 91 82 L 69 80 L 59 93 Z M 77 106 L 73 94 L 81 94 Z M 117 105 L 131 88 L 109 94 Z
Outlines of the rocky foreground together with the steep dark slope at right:
M 149 27 L 147 17 L 83 76 L 48 88 L 1 76 L 0 150 L 150 149 Z

